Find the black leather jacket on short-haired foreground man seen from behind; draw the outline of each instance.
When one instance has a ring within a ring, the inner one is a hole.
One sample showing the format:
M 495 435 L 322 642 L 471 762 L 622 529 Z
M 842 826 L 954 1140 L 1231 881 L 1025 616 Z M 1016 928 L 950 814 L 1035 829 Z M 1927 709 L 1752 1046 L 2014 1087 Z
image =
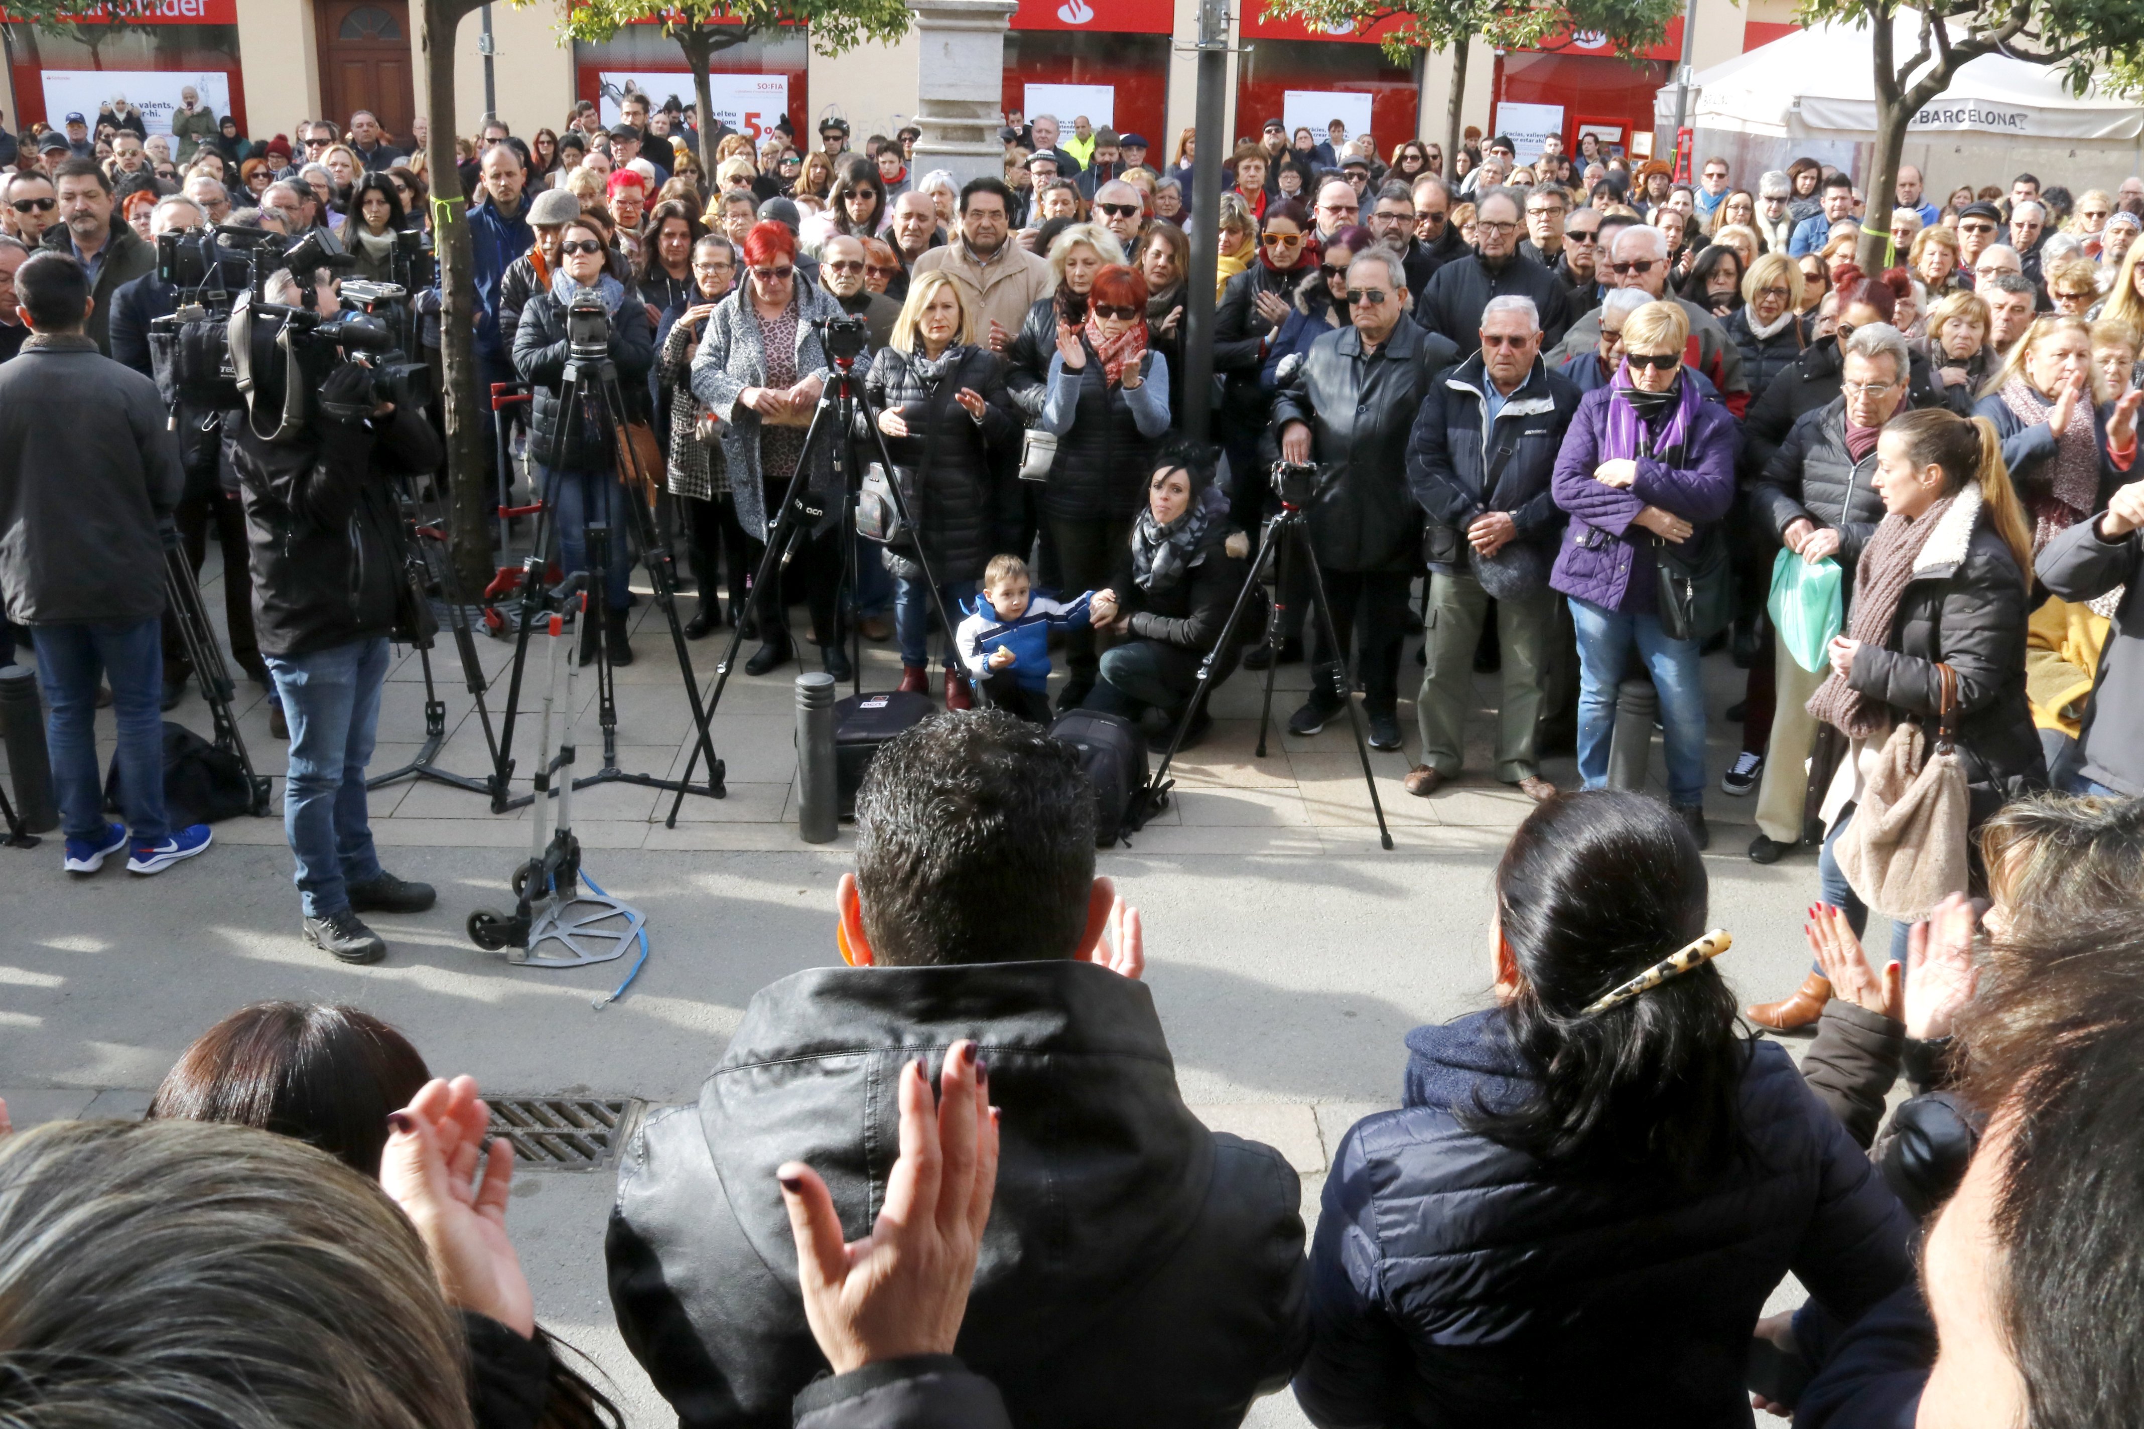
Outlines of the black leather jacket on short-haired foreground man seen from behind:
M 1145 983 L 1061 960 L 810 968 L 753 996 L 699 1103 L 654 1112 L 617 1174 L 611 1307 L 684 1429 L 789 1429 L 825 1358 L 774 1168 L 808 1163 L 866 1234 L 894 1080 L 918 1056 L 935 1078 L 961 1037 L 988 1052 L 1003 1140 L 956 1350 L 1012 1423 L 1235 1429 L 1289 1380 L 1301 1178 L 1190 1114 Z

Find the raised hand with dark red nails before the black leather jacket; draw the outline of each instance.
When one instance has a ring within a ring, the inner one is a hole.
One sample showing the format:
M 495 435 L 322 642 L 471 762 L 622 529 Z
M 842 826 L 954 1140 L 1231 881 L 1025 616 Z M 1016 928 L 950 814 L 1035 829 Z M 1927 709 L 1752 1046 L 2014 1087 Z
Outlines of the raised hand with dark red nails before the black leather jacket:
M 845 1243 L 834 1195 L 802 1161 L 776 1168 L 798 1243 L 804 1322 L 834 1373 L 952 1354 L 997 1193 L 997 1108 L 973 1041 L 946 1050 L 933 1108 L 922 1058 L 900 1069 L 900 1159 L 885 1206 Z

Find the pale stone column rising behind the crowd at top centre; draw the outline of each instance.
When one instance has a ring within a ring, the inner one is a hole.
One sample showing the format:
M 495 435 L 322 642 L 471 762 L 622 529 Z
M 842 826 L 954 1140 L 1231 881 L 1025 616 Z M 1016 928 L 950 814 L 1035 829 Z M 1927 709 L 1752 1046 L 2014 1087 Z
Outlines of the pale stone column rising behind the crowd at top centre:
M 918 174 L 946 169 L 956 184 L 1003 176 L 997 141 L 1006 96 L 1006 26 L 1018 0 L 909 0 L 915 13 Z

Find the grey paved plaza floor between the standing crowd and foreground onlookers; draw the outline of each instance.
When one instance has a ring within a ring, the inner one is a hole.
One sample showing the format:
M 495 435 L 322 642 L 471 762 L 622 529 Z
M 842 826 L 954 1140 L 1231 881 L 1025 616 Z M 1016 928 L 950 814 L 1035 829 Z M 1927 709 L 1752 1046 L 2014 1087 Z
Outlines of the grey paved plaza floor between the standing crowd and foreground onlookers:
M 214 568 L 210 611 L 221 608 Z M 645 589 L 645 587 L 643 587 Z M 686 602 L 690 613 L 690 602 Z M 798 630 L 804 613 L 793 615 Z M 690 713 L 667 630 L 650 600 L 635 611 L 637 662 L 617 673 L 617 763 L 630 771 L 680 769 Z M 701 679 L 727 632 L 690 645 Z M 1419 666 L 1413 647 L 1402 688 Z M 500 681 L 510 647 L 478 641 Z M 482 773 L 485 743 L 459 660 L 433 651 L 450 739 L 440 763 Z M 540 681 L 542 664 L 530 664 Z M 746 647 L 744 653 L 750 653 Z M 615 1005 L 592 1003 L 630 966 L 515 968 L 478 951 L 463 919 L 510 906 L 506 876 L 530 842 L 527 812 L 495 816 L 480 795 L 405 782 L 373 795 L 384 863 L 440 887 L 420 917 L 377 917 L 386 962 L 341 966 L 298 938 L 298 898 L 281 818 L 217 825 L 217 846 L 157 878 L 118 866 L 94 878 L 60 870 L 58 838 L 34 851 L 0 848 L 0 1097 L 17 1127 L 54 1116 L 133 1116 L 178 1052 L 234 1007 L 262 998 L 334 1001 L 403 1028 L 440 1075 L 472 1073 L 495 1095 L 615 1095 L 684 1101 L 720 1056 L 753 992 L 808 966 L 832 964 L 834 883 L 851 866 L 849 829 L 810 846 L 795 829 L 793 677 L 738 673 L 714 716 L 729 797 L 688 795 L 665 827 L 669 797 L 613 784 L 577 795 L 587 870 L 647 913 L 652 956 Z M 1807 947 L 1801 906 L 1816 891 L 1814 857 L 1758 868 L 1750 799 L 1728 799 L 1717 776 L 1732 758 L 1722 718 L 1741 698 L 1741 673 L 1707 662 L 1715 743 L 1709 795 L 1713 923 L 1734 934 L 1719 964 L 1745 998 L 1801 981 Z M 890 647 L 868 647 L 866 688 L 892 688 Z M 375 769 L 405 763 L 425 731 L 420 668 L 399 653 L 390 675 Z M 1276 733 L 1256 758 L 1259 686 L 1239 673 L 1218 692 L 1214 737 L 1179 761 L 1173 808 L 1130 846 L 1100 855 L 1145 915 L 1147 981 L 1168 1031 L 1186 1101 L 1214 1127 L 1278 1146 L 1304 1174 L 1306 1219 L 1329 1150 L 1361 1114 L 1396 1105 L 1406 1028 L 1482 1007 L 1488 996 L 1490 874 L 1531 803 L 1473 773 L 1432 799 L 1400 788 L 1415 750 L 1413 705 L 1402 701 L 1406 754 L 1372 754 L 1396 840 L 1376 844 L 1370 803 L 1346 724 L 1312 739 L 1278 731 L 1301 701 L 1306 666 L 1280 671 Z M 594 681 L 581 692 L 594 703 Z M 1477 679 L 1482 709 L 1494 677 Z M 536 709 L 534 683 L 523 709 Z M 240 724 L 264 773 L 283 746 L 270 737 L 264 696 L 240 690 Z M 206 733 L 199 694 L 167 718 Z M 1490 765 L 1492 724 L 1471 724 L 1469 765 Z M 109 711 L 101 716 L 109 741 Z M 594 713 L 581 720 L 583 767 L 600 754 Z M 534 728 L 517 735 L 521 769 Z M 1659 765 L 1655 748 L 1655 771 Z M 1544 773 L 1576 784 L 1569 758 Z M 525 791 L 525 780 L 519 780 Z M 1878 930 L 1880 936 L 1880 930 Z M 611 1326 L 602 1283 L 602 1221 L 613 1172 L 525 1170 L 510 1230 L 538 1315 L 587 1350 L 611 1375 L 635 1425 L 671 1423 Z M 1788 1283 L 1777 1303 L 1795 1303 Z M 1301 1425 L 1278 1395 L 1252 1425 Z

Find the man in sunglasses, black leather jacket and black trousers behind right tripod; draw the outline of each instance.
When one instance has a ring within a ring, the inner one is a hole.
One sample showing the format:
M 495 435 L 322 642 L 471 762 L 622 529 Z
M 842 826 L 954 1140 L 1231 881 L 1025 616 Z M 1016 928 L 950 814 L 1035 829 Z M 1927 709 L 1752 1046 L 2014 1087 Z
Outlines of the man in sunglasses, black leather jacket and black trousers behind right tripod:
M 1346 274 L 1351 326 L 1327 332 L 1274 403 L 1280 456 L 1316 463 L 1310 548 L 1325 576 L 1338 649 L 1323 647 L 1289 733 L 1316 735 L 1346 707 L 1346 651 L 1361 608 L 1361 688 L 1370 743 L 1400 748 L 1400 638 L 1421 516 L 1406 493 L 1406 435 L 1458 349 L 1406 317 L 1400 259 L 1359 253 Z

